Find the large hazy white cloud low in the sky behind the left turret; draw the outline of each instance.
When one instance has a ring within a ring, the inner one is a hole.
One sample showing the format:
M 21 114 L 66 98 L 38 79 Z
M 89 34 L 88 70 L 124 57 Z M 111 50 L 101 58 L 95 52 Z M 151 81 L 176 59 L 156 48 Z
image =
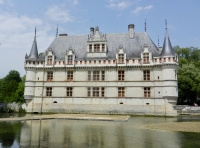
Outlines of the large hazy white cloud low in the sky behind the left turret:
M 29 54 L 34 38 L 34 28 L 37 29 L 38 51 L 47 49 L 55 36 L 48 35 L 52 28 L 40 18 L 32 18 L 17 13 L 0 13 L 0 78 L 10 70 L 17 70 L 23 76 L 24 57 Z

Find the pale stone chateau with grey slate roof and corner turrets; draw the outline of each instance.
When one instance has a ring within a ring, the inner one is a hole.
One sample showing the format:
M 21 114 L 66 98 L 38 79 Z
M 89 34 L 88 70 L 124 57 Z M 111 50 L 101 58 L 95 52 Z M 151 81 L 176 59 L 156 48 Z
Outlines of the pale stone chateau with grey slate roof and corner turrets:
M 176 116 L 177 55 L 166 29 L 163 47 L 128 25 L 126 33 L 60 34 L 25 57 L 27 112 Z

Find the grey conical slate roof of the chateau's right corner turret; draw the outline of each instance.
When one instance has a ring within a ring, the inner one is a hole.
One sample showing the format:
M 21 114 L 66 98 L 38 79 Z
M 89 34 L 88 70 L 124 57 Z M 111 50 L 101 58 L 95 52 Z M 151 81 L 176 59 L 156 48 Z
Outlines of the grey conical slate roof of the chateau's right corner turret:
M 174 56 L 174 52 L 173 52 L 172 45 L 171 45 L 167 31 L 166 31 L 166 34 L 165 34 L 165 40 L 164 40 L 164 43 L 163 43 L 161 56 Z

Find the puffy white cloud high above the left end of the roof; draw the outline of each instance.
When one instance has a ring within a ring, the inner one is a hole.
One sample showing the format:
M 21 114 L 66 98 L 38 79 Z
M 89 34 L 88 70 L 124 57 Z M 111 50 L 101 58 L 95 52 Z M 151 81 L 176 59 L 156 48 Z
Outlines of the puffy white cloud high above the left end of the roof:
M 49 7 L 47 12 L 45 13 L 49 19 L 56 22 L 73 22 L 73 17 L 69 14 L 68 10 L 64 10 L 62 6 L 52 6 Z

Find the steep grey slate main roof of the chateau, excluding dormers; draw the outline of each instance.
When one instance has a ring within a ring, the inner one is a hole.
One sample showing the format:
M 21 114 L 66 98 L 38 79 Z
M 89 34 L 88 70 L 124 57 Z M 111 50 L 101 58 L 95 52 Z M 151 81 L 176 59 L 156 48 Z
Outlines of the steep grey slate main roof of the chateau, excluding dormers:
M 128 33 L 106 34 L 107 39 L 107 57 L 101 59 L 115 59 L 116 50 L 120 45 L 125 49 L 128 59 L 140 58 L 142 47 L 146 44 L 153 57 L 159 57 L 159 50 L 153 43 L 146 32 L 135 33 L 133 39 L 129 38 Z M 71 47 L 75 51 L 76 60 L 89 59 L 87 57 L 87 41 L 88 35 L 82 36 L 58 36 L 51 43 L 49 48 L 55 53 L 55 60 L 64 60 L 66 51 Z M 47 49 L 48 50 L 48 49 Z M 46 51 L 47 51 L 46 50 Z M 38 60 L 42 60 L 45 53 L 39 56 Z M 97 57 L 98 58 L 98 57 Z M 99 58 L 98 58 L 99 59 Z

